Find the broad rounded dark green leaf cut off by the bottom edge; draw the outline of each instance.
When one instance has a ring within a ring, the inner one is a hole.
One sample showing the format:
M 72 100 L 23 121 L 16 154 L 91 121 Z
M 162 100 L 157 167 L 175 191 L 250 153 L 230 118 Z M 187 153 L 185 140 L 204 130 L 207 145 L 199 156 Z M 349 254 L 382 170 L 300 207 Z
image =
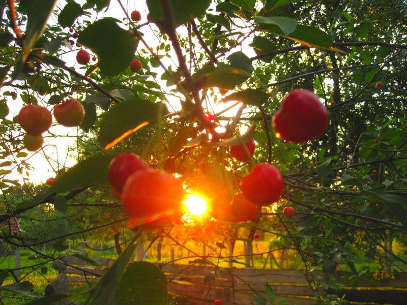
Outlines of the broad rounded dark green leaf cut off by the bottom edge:
M 117 287 L 117 305 L 167 305 L 167 279 L 164 273 L 149 262 L 128 265 Z

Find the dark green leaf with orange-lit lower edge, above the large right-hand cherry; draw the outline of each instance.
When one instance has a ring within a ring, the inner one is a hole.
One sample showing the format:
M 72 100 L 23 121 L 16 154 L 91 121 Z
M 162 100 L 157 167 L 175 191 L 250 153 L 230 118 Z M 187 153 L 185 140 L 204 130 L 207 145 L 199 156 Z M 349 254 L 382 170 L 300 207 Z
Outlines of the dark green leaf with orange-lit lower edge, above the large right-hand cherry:
M 263 23 L 259 28 L 312 48 L 329 49 L 333 43 L 331 36 L 314 26 L 297 24 L 295 31 L 288 36 L 285 36 L 277 25 Z

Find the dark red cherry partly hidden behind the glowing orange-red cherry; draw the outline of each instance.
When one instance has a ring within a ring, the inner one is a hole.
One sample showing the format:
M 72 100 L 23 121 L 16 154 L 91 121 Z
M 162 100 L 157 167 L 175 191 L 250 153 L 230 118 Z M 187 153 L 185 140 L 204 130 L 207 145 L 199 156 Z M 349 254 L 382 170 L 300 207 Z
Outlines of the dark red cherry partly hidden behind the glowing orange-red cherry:
M 150 167 L 138 156 L 132 153 L 120 154 L 114 158 L 109 165 L 110 185 L 117 193 L 120 194 L 128 177 L 139 170 L 148 169 L 150 169 Z

